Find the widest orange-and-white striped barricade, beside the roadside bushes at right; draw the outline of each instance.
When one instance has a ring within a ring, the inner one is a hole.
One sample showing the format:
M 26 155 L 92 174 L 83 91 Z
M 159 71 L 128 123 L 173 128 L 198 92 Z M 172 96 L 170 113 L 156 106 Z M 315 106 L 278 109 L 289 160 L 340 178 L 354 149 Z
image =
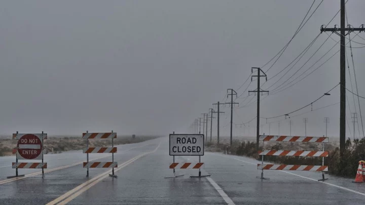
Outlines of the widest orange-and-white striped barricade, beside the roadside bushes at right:
M 261 170 L 261 177 L 264 178 L 264 170 L 288 170 L 288 171 L 314 171 L 321 172 L 322 179 L 318 181 L 327 180 L 324 178 L 324 172 L 328 171 L 328 166 L 324 166 L 324 157 L 329 156 L 328 151 L 324 151 L 324 143 L 329 142 L 328 137 L 301 137 L 301 136 L 274 136 L 274 135 L 260 135 L 260 140 L 263 141 L 263 150 L 259 150 L 258 154 L 262 156 L 261 164 L 258 164 L 258 170 Z M 322 143 L 322 151 L 305 151 L 305 150 L 264 150 L 265 141 L 269 142 L 314 142 Z M 304 157 L 322 157 L 322 165 L 273 165 L 264 164 L 264 156 L 304 156 Z

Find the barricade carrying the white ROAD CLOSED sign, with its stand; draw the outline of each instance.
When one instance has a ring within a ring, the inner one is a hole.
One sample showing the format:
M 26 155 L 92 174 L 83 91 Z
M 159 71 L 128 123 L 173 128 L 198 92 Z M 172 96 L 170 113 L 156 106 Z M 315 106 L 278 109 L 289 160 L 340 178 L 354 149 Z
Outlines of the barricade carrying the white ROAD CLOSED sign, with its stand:
M 200 156 L 204 155 L 204 135 L 201 134 L 170 134 L 169 136 L 169 155 L 172 156 L 173 162 L 170 164 L 169 169 L 173 170 L 173 177 L 165 178 L 176 178 L 184 175 L 176 175 L 175 169 L 193 169 L 199 170 L 198 176 L 195 177 L 209 177 L 210 175 L 201 175 L 201 167 L 204 163 L 200 161 Z M 198 163 L 191 162 L 175 162 L 175 156 L 199 156 Z

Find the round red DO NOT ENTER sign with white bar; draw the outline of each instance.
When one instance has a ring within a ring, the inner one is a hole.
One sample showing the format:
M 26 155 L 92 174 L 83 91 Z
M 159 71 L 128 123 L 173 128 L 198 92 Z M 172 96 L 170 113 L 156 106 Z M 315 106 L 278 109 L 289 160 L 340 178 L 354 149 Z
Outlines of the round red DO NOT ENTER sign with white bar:
M 23 135 L 18 140 L 18 153 L 24 159 L 35 159 L 42 153 L 42 141 L 33 134 Z

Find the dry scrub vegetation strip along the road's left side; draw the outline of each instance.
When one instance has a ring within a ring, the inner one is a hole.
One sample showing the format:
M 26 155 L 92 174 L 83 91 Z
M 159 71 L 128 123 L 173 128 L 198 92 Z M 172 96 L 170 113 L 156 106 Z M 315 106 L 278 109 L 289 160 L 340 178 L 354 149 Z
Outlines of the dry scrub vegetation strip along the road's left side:
M 160 136 L 136 136 L 132 137 L 118 137 L 114 139 L 114 144 L 131 144 L 138 143 L 146 140 L 151 140 L 158 138 Z M 11 138 L 11 137 L 9 137 Z M 12 139 L 0 139 L 0 156 L 12 155 L 13 147 L 16 147 L 17 140 Z M 98 140 L 89 140 L 89 146 L 93 147 L 102 147 L 102 146 L 111 146 L 111 139 L 98 139 Z M 48 137 L 47 140 L 44 140 L 44 146 L 54 150 L 55 153 L 59 153 L 62 151 L 69 150 L 80 150 L 86 147 L 86 140 L 81 139 L 81 137 Z

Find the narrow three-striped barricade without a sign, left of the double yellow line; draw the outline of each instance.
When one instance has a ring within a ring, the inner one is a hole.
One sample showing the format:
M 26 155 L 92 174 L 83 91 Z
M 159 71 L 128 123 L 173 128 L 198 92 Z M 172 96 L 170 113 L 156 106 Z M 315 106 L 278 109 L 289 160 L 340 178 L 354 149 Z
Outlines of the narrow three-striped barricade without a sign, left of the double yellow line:
M 87 169 L 86 176 L 89 177 L 89 168 L 112 168 L 111 177 L 117 178 L 114 174 L 114 168 L 118 167 L 118 162 L 114 161 L 114 153 L 117 153 L 117 147 L 114 147 L 114 138 L 117 138 L 117 133 L 83 133 L 83 139 L 86 139 L 86 148 L 83 149 L 83 153 L 86 153 L 86 162 L 83 163 L 83 167 Z M 112 147 L 89 147 L 89 139 L 112 139 Z M 89 153 L 112 153 L 112 161 L 106 162 L 89 162 Z

